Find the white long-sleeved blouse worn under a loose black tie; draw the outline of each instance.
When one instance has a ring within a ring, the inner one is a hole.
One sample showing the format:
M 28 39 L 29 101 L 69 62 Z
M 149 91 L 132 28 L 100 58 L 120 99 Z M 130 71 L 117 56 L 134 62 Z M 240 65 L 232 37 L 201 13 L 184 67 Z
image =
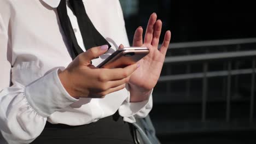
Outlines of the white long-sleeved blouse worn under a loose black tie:
M 130 103 L 129 89 L 103 99 L 72 98 L 63 88 L 57 70 L 72 58 L 56 7 L 60 0 L 0 1 L 0 143 L 30 143 L 40 135 L 46 121 L 82 125 L 113 115 L 124 121 L 146 117 L 152 95 Z M 119 44 L 129 46 L 118 0 L 84 0 L 92 23 L 112 45 L 97 65 Z M 68 16 L 78 44 L 85 51 L 76 17 L 68 5 Z M 138 95 L 139 97 L 139 95 Z

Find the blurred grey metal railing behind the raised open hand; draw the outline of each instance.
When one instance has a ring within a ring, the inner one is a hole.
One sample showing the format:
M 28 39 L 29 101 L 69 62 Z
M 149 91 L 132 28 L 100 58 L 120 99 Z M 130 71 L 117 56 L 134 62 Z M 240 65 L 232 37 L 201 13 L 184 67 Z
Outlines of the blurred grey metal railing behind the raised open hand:
M 255 50 L 242 50 L 241 45 L 243 44 L 254 44 Z M 226 91 L 226 99 L 225 99 L 225 121 L 230 122 L 230 105 L 231 105 L 231 76 L 238 75 L 251 75 L 251 95 L 249 97 L 249 122 L 253 122 L 254 116 L 254 93 L 255 93 L 255 59 L 256 59 L 256 38 L 249 39 L 232 39 L 232 40 L 214 40 L 214 41 L 199 41 L 199 42 L 191 42 L 191 43 L 176 43 L 171 44 L 169 47 L 169 51 L 179 50 L 186 48 L 187 50 L 195 50 L 196 47 L 218 47 L 218 46 L 232 46 L 235 47 L 233 51 L 219 51 L 219 52 L 206 52 L 202 54 L 196 55 L 182 55 L 182 56 L 166 56 L 165 64 L 166 75 L 161 75 L 159 82 L 166 83 L 167 94 L 170 92 L 170 82 L 173 81 L 181 81 L 186 80 L 187 85 L 185 91 L 187 91 L 187 95 L 189 97 L 190 93 L 190 80 L 191 79 L 202 79 L 202 98 L 201 98 L 201 122 L 206 122 L 207 115 L 207 93 L 208 93 L 208 78 L 210 77 L 225 77 L 223 80 L 223 85 L 225 85 Z M 239 49 L 237 49 L 239 47 Z M 191 49 L 193 48 L 193 49 Z M 237 61 L 241 61 L 246 59 L 251 61 L 251 68 L 240 69 L 238 67 Z M 226 63 L 226 69 L 218 70 L 218 71 L 210 71 L 209 63 L 210 62 L 223 62 Z M 235 62 L 234 62 L 235 61 Z M 200 73 L 191 73 L 191 64 L 197 63 L 202 65 L 202 71 Z M 235 68 L 232 68 L 232 63 L 235 63 Z M 184 64 L 186 65 L 186 72 L 184 74 L 171 74 L 171 68 L 168 65 L 172 64 Z M 235 80 L 235 85 L 237 85 L 237 80 Z

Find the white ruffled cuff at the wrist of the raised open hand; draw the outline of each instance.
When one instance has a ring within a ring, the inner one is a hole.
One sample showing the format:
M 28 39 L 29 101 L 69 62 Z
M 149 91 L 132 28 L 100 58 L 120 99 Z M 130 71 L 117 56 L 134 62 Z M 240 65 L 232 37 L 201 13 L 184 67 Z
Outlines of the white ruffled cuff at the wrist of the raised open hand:
M 129 97 L 124 101 L 124 103 L 119 107 L 119 115 L 124 117 L 126 122 L 136 122 L 135 117 L 143 118 L 148 115 L 153 107 L 152 92 L 150 93 L 147 100 L 130 103 L 130 92 Z

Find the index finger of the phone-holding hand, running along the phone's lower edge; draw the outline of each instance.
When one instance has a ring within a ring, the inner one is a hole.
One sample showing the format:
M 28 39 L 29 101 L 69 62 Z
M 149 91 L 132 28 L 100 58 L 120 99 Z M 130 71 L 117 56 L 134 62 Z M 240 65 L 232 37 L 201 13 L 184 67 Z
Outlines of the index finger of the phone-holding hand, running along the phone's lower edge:
M 125 68 L 114 68 L 114 69 L 103 68 L 102 73 L 104 73 L 104 76 L 106 76 L 107 81 L 121 80 L 130 76 L 138 67 L 139 65 L 136 63 L 136 64 L 128 65 Z

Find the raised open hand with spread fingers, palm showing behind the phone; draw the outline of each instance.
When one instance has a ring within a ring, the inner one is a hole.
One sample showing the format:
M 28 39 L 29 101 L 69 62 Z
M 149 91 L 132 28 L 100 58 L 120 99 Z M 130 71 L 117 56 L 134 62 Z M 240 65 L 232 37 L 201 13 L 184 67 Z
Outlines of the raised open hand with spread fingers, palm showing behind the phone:
M 138 27 L 135 31 L 133 46 L 148 47 L 150 52 L 138 62 L 140 67 L 130 77 L 131 102 L 143 101 L 148 98 L 148 95 L 158 82 L 162 65 L 164 64 L 166 51 L 171 40 L 171 32 L 167 31 L 165 33 L 162 46 L 158 50 L 162 22 L 161 20 L 156 20 L 156 18 L 155 13 L 149 18 L 144 43 L 142 27 Z

